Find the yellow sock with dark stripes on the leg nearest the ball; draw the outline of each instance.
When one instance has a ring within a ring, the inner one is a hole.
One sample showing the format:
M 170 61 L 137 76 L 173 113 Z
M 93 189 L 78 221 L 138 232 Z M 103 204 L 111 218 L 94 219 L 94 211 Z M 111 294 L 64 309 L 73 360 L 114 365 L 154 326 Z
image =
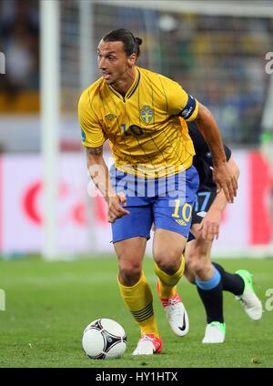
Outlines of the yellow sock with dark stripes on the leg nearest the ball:
M 127 308 L 138 324 L 141 335 L 154 334 L 159 337 L 157 320 L 153 309 L 153 295 L 142 272 L 141 278 L 132 287 L 126 287 L 117 278 L 118 287 Z

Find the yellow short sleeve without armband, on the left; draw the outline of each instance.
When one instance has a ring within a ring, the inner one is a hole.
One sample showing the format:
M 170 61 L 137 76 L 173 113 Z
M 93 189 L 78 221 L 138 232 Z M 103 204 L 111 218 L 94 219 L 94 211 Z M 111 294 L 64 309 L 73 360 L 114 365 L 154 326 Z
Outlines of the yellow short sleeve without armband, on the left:
M 99 124 L 88 95 L 83 92 L 78 103 L 78 119 L 81 127 L 82 144 L 85 147 L 101 147 L 106 141 L 105 133 Z

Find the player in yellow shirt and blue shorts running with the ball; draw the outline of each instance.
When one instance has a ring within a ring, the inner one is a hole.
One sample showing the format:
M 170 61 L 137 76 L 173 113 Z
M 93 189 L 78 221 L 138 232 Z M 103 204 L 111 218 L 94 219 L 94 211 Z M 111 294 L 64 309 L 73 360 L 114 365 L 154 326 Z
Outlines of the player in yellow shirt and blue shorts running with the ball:
M 136 66 L 141 43 L 126 29 L 102 38 L 97 47 L 102 76 L 86 88 L 78 107 L 88 170 L 108 205 L 119 290 L 140 328 L 134 355 L 162 349 L 152 292 L 142 270 L 153 222 L 159 299 L 171 329 L 178 336 L 188 331 L 187 312 L 177 293 L 198 188 L 187 121 L 196 121 L 206 138 L 217 186 L 228 202 L 237 191 L 214 117 L 177 82 Z M 179 117 L 184 118 L 182 128 Z M 106 139 L 115 159 L 110 171 L 103 157 Z

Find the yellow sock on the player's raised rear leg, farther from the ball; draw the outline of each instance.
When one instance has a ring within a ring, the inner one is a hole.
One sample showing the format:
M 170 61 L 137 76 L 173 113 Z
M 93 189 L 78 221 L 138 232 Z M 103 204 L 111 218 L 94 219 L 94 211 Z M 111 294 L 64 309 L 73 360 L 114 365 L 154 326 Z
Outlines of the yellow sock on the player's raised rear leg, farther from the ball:
M 155 272 L 159 279 L 159 296 L 163 299 L 171 298 L 177 291 L 177 282 L 183 276 L 185 270 L 185 258 L 182 255 L 180 268 L 173 275 L 168 275 L 155 263 Z

